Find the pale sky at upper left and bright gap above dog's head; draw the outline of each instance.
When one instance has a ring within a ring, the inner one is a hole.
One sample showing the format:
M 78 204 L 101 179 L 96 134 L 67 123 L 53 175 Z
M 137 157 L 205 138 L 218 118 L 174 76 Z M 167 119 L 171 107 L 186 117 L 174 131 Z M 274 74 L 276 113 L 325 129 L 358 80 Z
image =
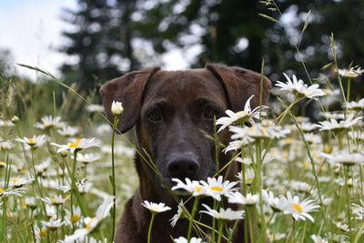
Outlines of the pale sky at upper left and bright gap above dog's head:
M 76 9 L 76 0 L 0 0 L 0 49 L 9 49 L 15 64 L 38 66 L 59 76 L 58 67 L 69 58 L 57 51 L 67 41 L 61 33 L 72 28 L 60 17 L 65 7 Z M 165 69 L 187 67 L 181 51 L 162 58 Z M 21 66 L 16 71 L 33 80 L 38 75 Z

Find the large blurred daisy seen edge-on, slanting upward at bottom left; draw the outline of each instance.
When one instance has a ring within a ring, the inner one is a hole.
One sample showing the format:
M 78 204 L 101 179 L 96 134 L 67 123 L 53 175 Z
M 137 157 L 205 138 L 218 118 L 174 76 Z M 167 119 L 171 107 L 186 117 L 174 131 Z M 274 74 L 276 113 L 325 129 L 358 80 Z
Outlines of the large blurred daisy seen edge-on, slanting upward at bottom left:
M 77 228 L 73 235 L 66 236 L 64 243 L 74 242 L 76 239 L 84 239 L 88 234 L 92 233 L 102 222 L 104 218 L 107 217 L 111 207 L 113 206 L 114 197 L 106 197 L 105 201 L 97 208 L 96 216 L 94 218 L 85 218 L 84 222 L 85 228 Z

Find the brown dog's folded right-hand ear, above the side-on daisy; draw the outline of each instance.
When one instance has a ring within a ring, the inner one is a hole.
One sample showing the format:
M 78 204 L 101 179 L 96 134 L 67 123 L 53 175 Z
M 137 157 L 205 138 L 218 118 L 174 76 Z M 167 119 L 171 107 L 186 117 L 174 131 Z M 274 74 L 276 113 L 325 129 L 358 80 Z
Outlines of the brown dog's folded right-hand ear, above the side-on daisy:
M 252 95 L 251 106 L 259 106 L 260 80 L 262 84 L 262 104 L 267 104 L 270 88 L 270 80 L 266 76 L 238 66 L 223 66 L 218 64 L 207 65 L 227 93 L 227 99 L 233 111 L 244 108 L 245 102 Z

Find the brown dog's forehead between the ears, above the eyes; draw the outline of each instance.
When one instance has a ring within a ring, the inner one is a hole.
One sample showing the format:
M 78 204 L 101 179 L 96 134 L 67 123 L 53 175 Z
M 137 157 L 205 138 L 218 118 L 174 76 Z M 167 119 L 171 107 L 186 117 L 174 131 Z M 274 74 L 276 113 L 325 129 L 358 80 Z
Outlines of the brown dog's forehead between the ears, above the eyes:
M 188 101 L 204 96 L 217 102 L 226 100 L 223 86 L 206 69 L 159 71 L 148 82 L 146 101 L 160 98 Z

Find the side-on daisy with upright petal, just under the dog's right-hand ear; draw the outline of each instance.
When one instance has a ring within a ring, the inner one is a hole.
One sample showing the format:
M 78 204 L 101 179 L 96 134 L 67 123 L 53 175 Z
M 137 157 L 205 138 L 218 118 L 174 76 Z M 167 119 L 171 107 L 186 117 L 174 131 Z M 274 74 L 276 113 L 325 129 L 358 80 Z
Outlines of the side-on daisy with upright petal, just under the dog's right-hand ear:
M 221 127 L 218 129 L 217 133 L 224 130 L 226 127 L 233 125 L 233 124 L 243 124 L 246 121 L 249 121 L 253 123 L 252 118 L 258 118 L 259 113 L 263 109 L 267 109 L 268 106 L 257 106 L 253 110 L 250 107 L 250 100 L 254 97 L 250 96 L 245 103 L 244 110 L 233 112 L 231 110 L 225 111 L 227 116 L 223 116 L 217 119 L 216 124 L 221 125 Z

